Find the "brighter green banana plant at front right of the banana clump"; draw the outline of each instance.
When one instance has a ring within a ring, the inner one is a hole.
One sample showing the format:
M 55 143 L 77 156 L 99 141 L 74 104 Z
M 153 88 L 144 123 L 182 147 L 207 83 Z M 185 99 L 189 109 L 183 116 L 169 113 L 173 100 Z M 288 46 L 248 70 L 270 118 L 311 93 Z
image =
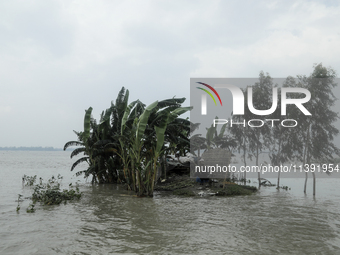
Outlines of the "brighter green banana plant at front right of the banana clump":
M 128 125 L 128 119 L 131 119 L 137 103 L 132 102 L 126 108 L 119 139 L 120 156 L 125 165 L 127 183 L 140 196 L 152 196 L 158 161 L 165 149 L 167 125 L 190 109 L 173 102 L 152 103 L 135 117 L 132 125 Z

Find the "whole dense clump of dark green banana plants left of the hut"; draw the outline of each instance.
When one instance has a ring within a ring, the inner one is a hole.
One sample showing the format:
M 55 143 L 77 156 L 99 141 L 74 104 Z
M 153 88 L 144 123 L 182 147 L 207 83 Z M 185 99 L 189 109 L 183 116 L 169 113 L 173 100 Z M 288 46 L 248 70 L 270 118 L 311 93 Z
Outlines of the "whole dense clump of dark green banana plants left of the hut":
M 85 111 L 84 131 L 75 132 L 78 146 L 71 158 L 83 154 L 71 167 L 82 162 L 86 170 L 76 175 L 92 176 L 95 183 L 126 183 L 138 196 L 152 196 L 160 159 L 167 153 L 185 155 L 190 150 L 190 122 L 179 116 L 190 110 L 182 107 L 185 98 L 155 101 L 145 106 L 139 100 L 128 104 L 129 91 L 124 88 L 115 103 L 102 112 L 99 124 Z

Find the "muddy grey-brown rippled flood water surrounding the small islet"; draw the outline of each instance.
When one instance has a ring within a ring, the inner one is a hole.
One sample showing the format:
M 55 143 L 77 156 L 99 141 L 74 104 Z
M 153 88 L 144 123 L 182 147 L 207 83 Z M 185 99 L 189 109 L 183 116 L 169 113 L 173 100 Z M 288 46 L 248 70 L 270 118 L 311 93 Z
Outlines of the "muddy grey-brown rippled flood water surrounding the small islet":
M 340 254 L 339 179 L 318 179 L 315 199 L 303 179 L 251 196 L 138 198 L 73 176 L 69 155 L 0 151 L 0 254 Z M 83 196 L 35 213 L 26 199 L 17 213 L 18 194 L 32 193 L 24 174 L 80 180 Z

